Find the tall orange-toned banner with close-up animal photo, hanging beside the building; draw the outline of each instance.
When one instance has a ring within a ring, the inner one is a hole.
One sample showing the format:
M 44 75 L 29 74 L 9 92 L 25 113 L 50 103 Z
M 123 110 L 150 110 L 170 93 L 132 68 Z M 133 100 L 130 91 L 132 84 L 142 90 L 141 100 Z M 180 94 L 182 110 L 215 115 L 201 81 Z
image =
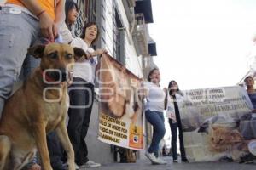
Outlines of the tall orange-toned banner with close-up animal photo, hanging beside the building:
M 99 78 L 98 139 L 108 144 L 143 149 L 141 79 L 108 54 L 103 54 Z

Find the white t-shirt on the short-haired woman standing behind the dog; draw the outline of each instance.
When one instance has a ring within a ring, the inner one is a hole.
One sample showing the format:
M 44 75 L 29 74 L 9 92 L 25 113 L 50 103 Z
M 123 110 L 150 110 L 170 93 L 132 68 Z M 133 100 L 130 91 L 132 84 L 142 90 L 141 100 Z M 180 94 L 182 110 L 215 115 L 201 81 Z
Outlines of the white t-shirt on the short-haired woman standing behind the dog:
M 82 48 L 85 52 L 92 53 L 94 49 L 91 48 L 83 39 L 76 37 L 73 38 L 71 46 L 76 48 Z M 73 77 L 79 77 L 86 82 L 94 84 L 96 65 L 98 63 L 97 57 L 93 57 L 89 60 L 84 60 L 80 63 L 75 63 L 73 66 Z

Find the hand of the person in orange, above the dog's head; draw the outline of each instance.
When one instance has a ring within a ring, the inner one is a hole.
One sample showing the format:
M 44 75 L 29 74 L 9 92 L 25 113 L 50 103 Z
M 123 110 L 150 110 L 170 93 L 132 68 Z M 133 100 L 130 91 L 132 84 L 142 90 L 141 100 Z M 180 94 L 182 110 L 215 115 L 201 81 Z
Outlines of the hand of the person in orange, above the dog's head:
M 49 42 L 54 42 L 58 32 L 54 20 L 46 12 L 40 14 L 38 19 L 42 35 L 48 38 Z

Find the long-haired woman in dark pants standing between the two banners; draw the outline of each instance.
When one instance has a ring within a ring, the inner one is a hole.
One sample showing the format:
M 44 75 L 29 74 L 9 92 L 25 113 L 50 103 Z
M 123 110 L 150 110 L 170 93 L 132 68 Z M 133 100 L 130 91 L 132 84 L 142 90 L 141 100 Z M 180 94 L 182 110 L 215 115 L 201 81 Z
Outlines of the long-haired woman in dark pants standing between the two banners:
M 177 107 L 177 99 L 176 94 L 181 94 L 180 90 L 178 89 L 177 82 L 172 80 L 169 82 L 168 85 L 168 98 L 167 98 L 167 111 L 166 114 L 169 117 L 169 124 L 171 127 L 172 133 L 172 158 L 173 162 L 177 162 L 177 129 L 178 129 L 178 138 L 179 138 L 179 145 L 180 145 L 180 153 L 181 153 L 181 160 L 187 162 L 186 153 L 184 149 L 183 143 L 183 129 L 182 123 L 180 119 L 180 114 Z

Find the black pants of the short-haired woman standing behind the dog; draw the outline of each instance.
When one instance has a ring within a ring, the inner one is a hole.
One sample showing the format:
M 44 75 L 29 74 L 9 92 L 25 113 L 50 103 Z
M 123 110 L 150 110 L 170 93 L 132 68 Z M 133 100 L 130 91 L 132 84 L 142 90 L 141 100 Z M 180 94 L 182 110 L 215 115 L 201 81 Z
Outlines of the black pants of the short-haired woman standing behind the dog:
M 75 162 L 80 166 L 88 160 L 87 145 L 84 141 L 89 124 L 90 113 L 94 101 L 94 85 L 83 79 L 74 77 L 73 84 L 68 88 L 70 107 L 67 133 L 75 153 Z

